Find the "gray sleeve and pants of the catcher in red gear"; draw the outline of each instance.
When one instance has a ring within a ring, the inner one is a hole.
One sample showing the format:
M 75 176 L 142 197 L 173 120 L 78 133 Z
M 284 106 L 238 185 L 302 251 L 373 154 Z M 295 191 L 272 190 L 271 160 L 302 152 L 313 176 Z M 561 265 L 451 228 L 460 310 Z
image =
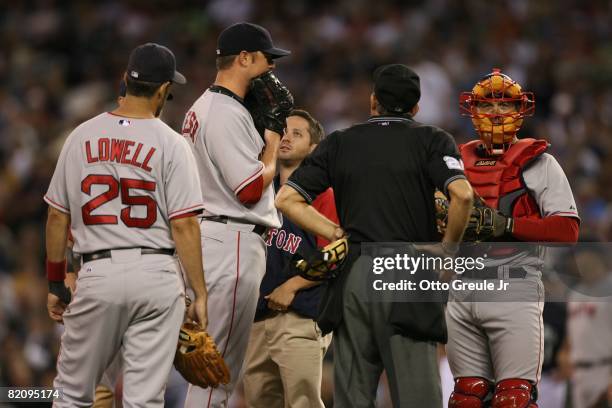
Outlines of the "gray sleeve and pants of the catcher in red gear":
M 543 217 L 579 218 L 567 177 L 553 156 L 544 153 L 535 159 L 524 170 L 523 180 Z M 540 255 L 522 252 L 501 260 L 487 260 L 489 267 L 525 267 L 525 279 L 509 281 L 513 293 L 516 291 L 533 301 L 461 302 L 456 300 L 464 299 L 465 291 L 452 291 L 451 299 L 455 301 L 449 301 L 446 310 L 447 353 L 455 378 L 539 381 L 544 347 L 544 287 L 539 271 L 543 254 Z

